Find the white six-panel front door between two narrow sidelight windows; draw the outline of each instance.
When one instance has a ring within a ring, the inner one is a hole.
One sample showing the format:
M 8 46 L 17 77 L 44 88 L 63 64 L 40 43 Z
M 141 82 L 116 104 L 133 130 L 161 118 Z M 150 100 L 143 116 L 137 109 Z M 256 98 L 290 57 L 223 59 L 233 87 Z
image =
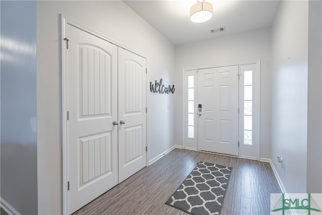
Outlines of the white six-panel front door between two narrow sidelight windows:
M 238 66 L 198 69 L 198 150 L 238 156 Z

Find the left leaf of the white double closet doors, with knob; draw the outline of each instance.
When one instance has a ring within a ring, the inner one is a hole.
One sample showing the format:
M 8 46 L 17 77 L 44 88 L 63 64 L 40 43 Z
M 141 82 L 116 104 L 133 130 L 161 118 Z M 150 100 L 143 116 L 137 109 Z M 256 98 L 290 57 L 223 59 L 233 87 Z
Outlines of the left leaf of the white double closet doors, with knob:
M 118 183 L 118 47 L 66 27 L 68 213 Z

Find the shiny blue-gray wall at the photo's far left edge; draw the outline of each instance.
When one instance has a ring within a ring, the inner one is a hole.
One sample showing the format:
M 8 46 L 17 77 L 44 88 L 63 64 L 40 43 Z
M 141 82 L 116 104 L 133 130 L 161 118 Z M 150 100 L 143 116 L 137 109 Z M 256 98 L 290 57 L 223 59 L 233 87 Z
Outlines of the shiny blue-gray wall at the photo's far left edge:
M 36 2 L 1 1 L 1 198 L 37 210 Z

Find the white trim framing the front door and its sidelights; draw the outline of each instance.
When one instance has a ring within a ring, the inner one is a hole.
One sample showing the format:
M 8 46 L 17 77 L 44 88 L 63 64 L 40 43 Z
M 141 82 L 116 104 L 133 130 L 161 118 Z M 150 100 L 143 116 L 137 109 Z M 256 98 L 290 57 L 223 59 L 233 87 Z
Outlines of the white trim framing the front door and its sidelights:
M 193 73 L 197 74 L 197 70 L 198 69 L 203 69 L 203 68 L 213 68 L 213 67 L 222 67 L 222 66 L 232 66 L 232 65 L 246 65 L 246 64 L 257 64 L 256 69 L 258 69 L 258 73 L 254 74 L 254 82 L 257 83 L 257 85 L 254 86 L 254 126 L 256 126 L 257 128 L 260 128 L 260 117 L 261 117 L 261 113 L 260 113 L 260 83 L 261 83 L 261 60 L 252 60 L 252 61 L 245 61 L 245 62 L 235 62 L 235 63 L 225 63 L 225 64 L 215 64 L 215 65 L 204 65 L 204 66 L 195 66 L 195 67 L 190 67 L 190 68 L 183 68 L 182 69 L 182 83 L 183 83 L 183 98 L 182 98 L 182 104 L 183 104 L 183 112 L 182 112 L 182 119 L 183 119 L 183 126 L 182 126 L 182 146 L 183 149 L 190 149 L 190 150 L 197 150 L 197 140 L 195 141 L 195 147 L 187 147 L 187 131 L 186 131 L 186 127 L 187 127 L 187 108 L 185 107 L 185 103 L 186 98 L 187 98 L 187 93 L 186 93 L 186 84 L 185 82 L 185 77 L 187 77 L 187 75 L 191 75 Z M 196 83 L 196 82 L 195 82 Z M 195 87 L 197 85 L 195 84 Z M 195 104 L 196 106 L 196 104 Z M 240 108 L 240 107 L 239 107 Z M 196 121 L 195 121 L 196 124 Z M 239 128 L 240 131 L 240 128 Z M 254 136 L 254 148 L 255 148 L 255 157 L 247 157 L 247 156 L 243 156 L 239 154 L 239 157 L 242 158 L 249 158 L 249 159 L 254 159 L 254 160 L 260 160 L 260 129 L 259 131 L 256 133 L 256 135 Z M 240 141 L 240 139 L 239 139 Z M 241 144 L 241 143 L 240 143 Z

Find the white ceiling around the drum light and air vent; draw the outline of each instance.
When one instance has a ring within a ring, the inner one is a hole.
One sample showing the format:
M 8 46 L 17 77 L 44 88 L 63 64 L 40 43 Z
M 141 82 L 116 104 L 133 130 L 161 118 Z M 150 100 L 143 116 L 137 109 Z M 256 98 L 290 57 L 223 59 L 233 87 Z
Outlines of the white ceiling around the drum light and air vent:
M 213 5 L 213 17 L 198 24 L 189 20 L 190 8 L 197 3 L 194 0 L 123 2 L 175 45 L 270 27 L 280 4 L 280 1 L 206 1 Z M 210 33 L 222 26 L 224 32 Z

